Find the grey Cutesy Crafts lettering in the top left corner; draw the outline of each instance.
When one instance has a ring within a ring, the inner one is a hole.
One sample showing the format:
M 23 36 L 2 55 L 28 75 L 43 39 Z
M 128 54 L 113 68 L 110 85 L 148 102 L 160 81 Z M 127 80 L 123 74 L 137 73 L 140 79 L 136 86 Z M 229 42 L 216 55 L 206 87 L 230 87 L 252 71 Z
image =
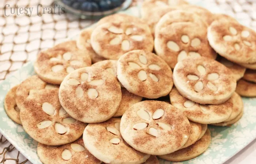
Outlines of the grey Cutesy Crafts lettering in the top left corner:
M 50 7 L 43 7 L 42 4 L 38 4 L 37 7 L 19 7 L 18 5 L 16 7 L 11 7 L 10 4 L 5 4 L 4 6 L 4 16 L 10 16 L 10 15 L 27 15 L 31 16 L 35 13 L 38 16 L 42 16 L 43 14 L 64 14 L 65 8 L 60 7 L 58 4 L 54 4 Z

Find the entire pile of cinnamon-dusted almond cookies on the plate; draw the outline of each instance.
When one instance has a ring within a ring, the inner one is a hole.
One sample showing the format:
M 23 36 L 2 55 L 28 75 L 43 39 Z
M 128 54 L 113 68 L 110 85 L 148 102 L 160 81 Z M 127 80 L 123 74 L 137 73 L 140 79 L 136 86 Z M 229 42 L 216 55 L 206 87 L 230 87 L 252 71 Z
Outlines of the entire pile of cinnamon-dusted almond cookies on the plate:
M 240 95 L 256 96 L 256 32 L 169 3 L 145 0 L 142 19 L 107 16 L 38 54 L 37 75 L 9 91 L 5 111 L 43 163 L 189 160 L 210 145 L 207 124 L 242 117 Z

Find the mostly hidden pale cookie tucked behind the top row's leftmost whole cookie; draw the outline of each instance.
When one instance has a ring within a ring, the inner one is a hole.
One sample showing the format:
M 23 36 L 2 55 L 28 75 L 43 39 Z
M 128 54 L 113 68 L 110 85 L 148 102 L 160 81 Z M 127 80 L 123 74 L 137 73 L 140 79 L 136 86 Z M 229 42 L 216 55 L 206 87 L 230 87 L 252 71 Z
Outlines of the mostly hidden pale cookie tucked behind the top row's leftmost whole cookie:
M 93 47 L 91 47 L 91 33 L 93 33 L 92 28 L 86 28 L 82 30 L 76 40 L 76 46 L 81 50 L 88 50 L 91 57 L 91 62 L 96 63 L 101 60 L 106 60 L 105 58 L 99 56 L 96 54 L 96 52 L 93 50 Z

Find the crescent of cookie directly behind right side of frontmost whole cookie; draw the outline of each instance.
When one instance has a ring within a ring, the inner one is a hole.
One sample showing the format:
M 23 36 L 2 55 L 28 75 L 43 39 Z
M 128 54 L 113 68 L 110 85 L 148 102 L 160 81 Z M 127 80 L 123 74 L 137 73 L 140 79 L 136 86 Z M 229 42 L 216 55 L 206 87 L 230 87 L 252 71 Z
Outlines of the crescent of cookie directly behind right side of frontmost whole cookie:
M 191 126 L 191 130 L 190 130 L 190 135 L 189 135 L 188 141 L 180 149 L 187 148 L 190 145 L 193 145 L 198 140 L 198 138 L 200 137 L 200 135 L 202 133 L 201 124 L 192 122 L 192 121 L 189 121 L 189 123 Z

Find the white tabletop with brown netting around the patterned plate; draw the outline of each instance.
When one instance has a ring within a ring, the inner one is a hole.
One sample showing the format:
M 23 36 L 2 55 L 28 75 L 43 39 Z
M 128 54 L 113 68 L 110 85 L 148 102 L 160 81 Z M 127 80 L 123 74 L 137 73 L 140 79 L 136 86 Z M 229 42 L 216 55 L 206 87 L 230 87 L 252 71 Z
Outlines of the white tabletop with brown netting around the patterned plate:
M 137 0 L 143 1 L 143 0 Z M 188 0 L 200 1 L 200 0 Z M 256 0 L 204 0 L 211 8 L 242 19 L 243 23 L 256 30 Z M 0 0 L 0 83 L 26 62 L 34 60 L 39 51 L 62 42 L 78 33 L 94 21 L 81 20 L 70 14 L 37 16 L 36 10 L 27 15 L 4 16 L 5 4 L 11 7 L 50 6 L 53 0 Z M 134 1 L 134 4 L 136 1 Z M 8 10 L 7 15 L 9 15 Z M 10 12 L 10 11 L 9 11 Z M 255 163 L 256 140 L 228 160 L 225 164 Z M 0 134 L 0 163 L 31 164 Z

